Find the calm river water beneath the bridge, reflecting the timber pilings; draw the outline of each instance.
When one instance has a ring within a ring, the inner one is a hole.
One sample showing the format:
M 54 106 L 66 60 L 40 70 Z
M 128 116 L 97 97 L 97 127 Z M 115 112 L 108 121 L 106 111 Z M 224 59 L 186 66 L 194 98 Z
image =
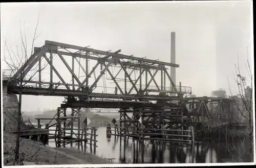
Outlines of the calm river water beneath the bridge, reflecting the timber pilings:
M 117 120 L 119 118 L 119 113 L 97 114 Z M 132 113 L 127 114 L 132 116 Z M 74 132 L 77 133 L 76 130 Z M 55 131 L 50 131 L 50 133 L 55 133 Z M 182 144 L 156 140 L 141 141 L 114 135 L 107 138 L 106 127 L 97 128 L 96 134 L 98 136 L 95 154 L 103 158 L 114 158 L 113 163 L 249 162 L 248 155 L 241 155 L 247 153 L 248 149 L 244 143 L 244 137 L 232 138 L 227 142 L 225 135 L 222 134 L 217 139 L 197 139 L 199 142 Z M 56 147 L 54 139 L 49 139 L 49 146 Z M 71 148 L 71 145 L 66 145 L 66 148 Z M 72 148 L 77 149 L 78 143 L 73 142 Z M 81 145 L 79 150 L 84 151 Z M 86 152 L 94 153 L 94 147 L 87 144 Z

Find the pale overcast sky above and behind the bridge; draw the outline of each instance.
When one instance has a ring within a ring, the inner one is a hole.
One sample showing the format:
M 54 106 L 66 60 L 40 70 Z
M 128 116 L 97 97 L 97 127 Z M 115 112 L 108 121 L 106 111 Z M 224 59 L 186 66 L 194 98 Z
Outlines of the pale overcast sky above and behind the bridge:
M 192 87 L 193 94 L 209 96 L 217 88 L 228 90 L 229 77 L 236 92 L 236 53 L 244 65 L 248 46 L 252 58 L 251 6 L 250 1 L 2 3 L 1 49 L 3 39 L 19 45 L 20 25 L 31 39 L 38 14 L 41 33 L 36 46 L 52 40 L 103 51 L 121 49 L 122 54 L 170 62 L 170 32 L 176 32 L 176 63 L 180 65 L 176 84 L 181 81 Z M 246 73 L 244 67 L 241 70 Z M 63 98 L 24 96 L 23 110 L 57 108 L 61 101 Z

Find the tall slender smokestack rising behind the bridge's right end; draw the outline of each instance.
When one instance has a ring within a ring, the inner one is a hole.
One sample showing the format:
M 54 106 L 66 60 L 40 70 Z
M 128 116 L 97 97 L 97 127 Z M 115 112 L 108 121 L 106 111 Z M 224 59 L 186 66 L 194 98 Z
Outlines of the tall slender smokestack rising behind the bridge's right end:
M 170 63 L 175 64 L 175 32 L 170 33 Z M 176 67 L 170 67 L 170 77 L 176 85 Z

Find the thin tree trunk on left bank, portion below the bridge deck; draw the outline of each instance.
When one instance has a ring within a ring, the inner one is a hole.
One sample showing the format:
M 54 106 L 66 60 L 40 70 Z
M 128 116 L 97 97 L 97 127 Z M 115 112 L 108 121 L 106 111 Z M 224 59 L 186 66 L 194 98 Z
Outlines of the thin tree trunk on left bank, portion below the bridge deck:
M 22 94 L 19 93 L 19 99 L 18 99 L 18 126 L 17 126 L 17 134 L 16 134 L 16 147 L 15 147 L 15 159 L 14 159 L 14 165 L 15 162 L 18 162 L 19 159 L 19 138 L 20 138 L 20 126 L 22 122 Z

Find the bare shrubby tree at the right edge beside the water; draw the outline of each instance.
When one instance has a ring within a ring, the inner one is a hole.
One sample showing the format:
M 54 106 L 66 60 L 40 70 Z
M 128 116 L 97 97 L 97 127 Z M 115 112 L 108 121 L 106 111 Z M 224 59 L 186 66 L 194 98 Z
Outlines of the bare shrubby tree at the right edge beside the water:
M 247 59 L 245 60 L 245 67 L 247 70 L 247 77 L 244 77 L 240 71 L 239 56 L 238 64 L 235 65 L 236 74 L 234 74 L 234 82 L 238 87 L 238 95 L 233 95 L 230 85 L 229 91 L 231 93 L 231 98 L 233 100 L 233 107 L 230 109 L 232 114 L 232 122 L 240 125 L 246 124 L 248 127 L 241 129 L 239 132 L 246 135 L 241 144 L 241 147 L 236 147 L 234 145 L 233 136 L 231 136 L 232 143 L 228 144 L 228 150 L 234 151 L 236 155 L 232 155 L 236 159 L 240 159 L 243 153 L 241 153 L 241 148 L 248 146 L 248 150 L 245 150 L 249 156 L 250 161 L 253 161 L 253 109 L 252 109 L 252 71 L 248 60 L 248 48 L 247 48 Z M 229 81 L 228 81 L 229 84 Z M 240 148 L 240 150 L 239 150 Z

